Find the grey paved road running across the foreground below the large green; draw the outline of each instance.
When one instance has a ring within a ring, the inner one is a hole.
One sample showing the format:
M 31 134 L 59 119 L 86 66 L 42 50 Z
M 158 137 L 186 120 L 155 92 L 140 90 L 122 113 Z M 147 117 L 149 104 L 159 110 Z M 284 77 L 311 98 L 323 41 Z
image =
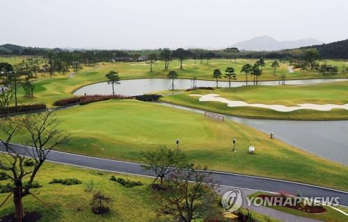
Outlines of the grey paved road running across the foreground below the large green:
M 13 148 L 19 153 L 24 153 L 22 145 L 13 145 Z M 30 152 L 31 149 L 29 149 Z M 6 151 L 3 144 L 0 145 L 0 152 Z M 136 175 L 154 176 L 150 171 L 143 171 L 141 164 L 126 161 L 116 161 L 111 159 L 100 159 L 96 157 L 88 157 L 79 154 L 71 154 L 68 152 L 58 152 L 52 150 L 47 155 L 47 160 L 61 164 L 71 164 L 74 166 L 82 166 L 87 168 L 95 168 L 104 171 L 113 171 L 118 173 L 130 173 Z M 334 189 L 326 189 L 324 187 L 315 187 L 308 184 L 300 184 L 295 182 L 287 182 L 283 180 L 272 180 L 264 177 L 253 177 L 248 175 L 239 175 L 235 173 L 223 173 L 212 171 L 212 177 L 219 182 L 221 186 L 239 187 L 243 189 L 254 189 L 258 191 L 268 192 L 287 192 L 296 195 L 301 191 L 304 197 L 340 197 L 340 205 L 348 207 L 348 192 L 338 191 Z M 325 180 L 325 178 L 323 178 Z

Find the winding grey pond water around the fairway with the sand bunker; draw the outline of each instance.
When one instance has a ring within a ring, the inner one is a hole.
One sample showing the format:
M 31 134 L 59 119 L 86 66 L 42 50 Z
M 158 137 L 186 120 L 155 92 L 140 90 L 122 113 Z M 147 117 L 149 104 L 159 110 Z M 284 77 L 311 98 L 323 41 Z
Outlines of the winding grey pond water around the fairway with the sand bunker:
M 288 80 L 287 85 L 294 84 L 321 84 L 334 81 L 347 81 L 347 79 L 303 79 Z M 130 79 L 120 81 L 116 88 L 116 93 L 122 95 L 142 95 L 144 93 L 168 90 L 171 86 L 170 79 Z M 212 87 L 215 81 L 196 81 L 196 86 Z M 228 83 L 220 82 L 221 86 Z M 251 84 L 251 83 L 250 83 Z M 260 85 L 276 86 L 278 81 L 260 81 Z M 244 86 L 245 82 L 233 82 L 232 86 Z M 175 79 L 175 87 L 179 89 L 191 88 L 190 79 Z M 93 95 L 112 93 L 111 85 L 106 82 L 84 86 L 76 90 L 74 95 Z M 185 109 L 203 113 L 198 109 L 190 109 L 184 106 L 164 104 L 176 109 Z M 342 121 L 295 121 L 295 120 L 258 120 L 249 118 L 237 118 L 226 116 L 226 118 L 242 122 L 266 134 L 274 132 L 276 138 L 301 148 L 319 157 L 324 157 L 341 164 L 348 165 L 348 120 Z M 257 149 L 257 148 L 256 148 Z

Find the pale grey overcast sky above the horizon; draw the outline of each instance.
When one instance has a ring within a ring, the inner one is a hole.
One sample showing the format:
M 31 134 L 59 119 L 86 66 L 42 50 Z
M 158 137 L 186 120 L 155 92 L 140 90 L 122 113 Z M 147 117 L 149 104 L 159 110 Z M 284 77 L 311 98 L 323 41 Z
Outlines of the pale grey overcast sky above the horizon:
M 348 38 L 348 1 L 0 0 L 0 45 L 98 49 L 227 47 Z

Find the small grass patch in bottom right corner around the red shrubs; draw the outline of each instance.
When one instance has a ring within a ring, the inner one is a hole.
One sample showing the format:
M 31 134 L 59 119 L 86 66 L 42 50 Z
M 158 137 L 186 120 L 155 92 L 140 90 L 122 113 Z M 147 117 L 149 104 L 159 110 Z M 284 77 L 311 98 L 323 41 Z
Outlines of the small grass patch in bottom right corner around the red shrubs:
M 268 195 L 269 193 L 257 192 L 257 193 L 251 194 L 251 196 L 249 196 L 249 198 L 257 197 L 260 194 Z M 269 207 L 269 206 L 267 206 L 267 207 Z M 342 213 L 338 212 L 337 210 L 335 210 L 335 209 L 333 209 L 331 207 L 324 207 L 326 209 L 326 212 L 324 212 L 322 214 L 310 214 L 310 213 L 307 213 L 307 212 L 301 212 L 301 211 L 296 210 L 296 209 L 291 209 L 289 207 L 275 206 L 275 207 L 270 207 L 270 208 L 276 209 L 276 210 L 279 210 L 281 212 L 285 212 L 285 213 L 288 213 L 288 214 L 294 214 L 296 216 L 303 216 L 303 217 L 306 217 L 306 218 L 315 219 L 315 220 L 318 220 L 318 221 L 345 222 L 345 221 L 348 220 L 348 216 L 345 216 L 345 214 L 342 214 Z M 337 207 L 337 208 L 341 209 L 342 207 Z

